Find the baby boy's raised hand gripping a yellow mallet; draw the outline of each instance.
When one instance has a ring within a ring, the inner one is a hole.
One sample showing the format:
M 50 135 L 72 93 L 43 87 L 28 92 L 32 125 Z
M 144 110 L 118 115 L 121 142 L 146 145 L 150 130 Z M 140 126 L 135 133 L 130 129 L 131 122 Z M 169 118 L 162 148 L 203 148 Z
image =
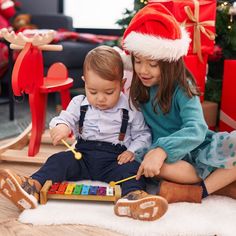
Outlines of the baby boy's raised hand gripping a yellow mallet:
M 61 139 L 67 138 L 70 132 L 70 128 L 65 124 L 58 124 L 54 128 L 50 129 L 53 145 L 57 145 Z

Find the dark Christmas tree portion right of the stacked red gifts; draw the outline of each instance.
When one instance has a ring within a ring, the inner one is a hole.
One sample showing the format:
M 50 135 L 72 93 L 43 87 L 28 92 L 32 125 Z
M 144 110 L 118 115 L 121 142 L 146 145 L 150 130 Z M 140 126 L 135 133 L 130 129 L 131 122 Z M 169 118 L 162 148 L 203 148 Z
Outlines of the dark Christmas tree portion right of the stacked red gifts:
M 236 2 L 217 1 L 216 45 L 209 57 L 205 99 L 220 103 L 225 59 L 236 59 Z

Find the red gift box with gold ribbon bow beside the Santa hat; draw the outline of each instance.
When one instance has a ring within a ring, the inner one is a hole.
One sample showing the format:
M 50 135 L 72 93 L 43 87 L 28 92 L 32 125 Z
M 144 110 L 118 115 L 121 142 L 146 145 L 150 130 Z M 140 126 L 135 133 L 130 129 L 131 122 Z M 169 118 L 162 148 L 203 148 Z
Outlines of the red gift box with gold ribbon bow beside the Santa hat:
M 189 54 L 212 54 L 215 39 L 215 0 L 174 0 L 173 15 L 186 27 L 192 42 Z

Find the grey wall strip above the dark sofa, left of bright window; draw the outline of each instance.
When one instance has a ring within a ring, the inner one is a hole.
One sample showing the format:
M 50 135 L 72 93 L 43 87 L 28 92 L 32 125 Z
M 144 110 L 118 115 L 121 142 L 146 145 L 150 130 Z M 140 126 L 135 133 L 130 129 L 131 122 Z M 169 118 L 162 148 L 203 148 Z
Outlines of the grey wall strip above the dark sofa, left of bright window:
M 58 12 L 58 0 L 19 0 L 20 13 L 30 14 L 56 14 Z

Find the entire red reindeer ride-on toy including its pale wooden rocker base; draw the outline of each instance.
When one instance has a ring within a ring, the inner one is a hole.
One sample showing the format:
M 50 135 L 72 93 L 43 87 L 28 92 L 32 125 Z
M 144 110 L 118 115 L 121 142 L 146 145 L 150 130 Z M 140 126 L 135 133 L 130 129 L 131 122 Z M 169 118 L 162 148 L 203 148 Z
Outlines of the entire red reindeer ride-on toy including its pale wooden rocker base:
M 12 49 L 21 50 L 12 71 L 12 89 L 15 96 L 28 94 L 32 121 L 21 135 L 0 147 L 0 160 L 43 163 L 50 155 L 65 150 L 64 146 L 54 147 L 51 142 L 43 141 L 44 136 L 48 136 L 48 132 L 44 132 L 48 94 L 59 92 L 62 108 L 66 109 L 71 100 L 69 88 L 73 79 L 60 62 L 51 65 L 44 76 L 42 50 L 62 50 L 60 45 L 49 44 L 53 31 L 26 37 L 1 29 L 0 34 L 11 43 Z

